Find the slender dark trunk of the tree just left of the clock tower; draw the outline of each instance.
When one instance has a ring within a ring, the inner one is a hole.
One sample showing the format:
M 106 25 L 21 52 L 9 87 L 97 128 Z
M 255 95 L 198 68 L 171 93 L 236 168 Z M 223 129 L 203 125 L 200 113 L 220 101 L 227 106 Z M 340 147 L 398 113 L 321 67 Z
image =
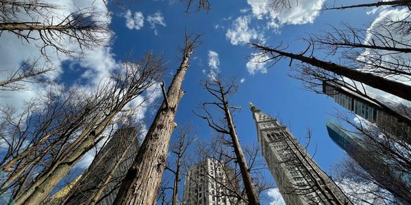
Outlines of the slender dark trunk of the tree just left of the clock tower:
M 223 90 L 223 87 L 221 87 L 221 84 L 219 84 L 219 86 L 221 98 L 223 100 L 224 105 L 225 119 L 227 120 L 227 124 L 229 127 L 229 135 L 231 136 L 233 141 L 234 152 L 236 153 L 238 166 L 240 167 L 242 181 L 244 182 L 245 192 L 247 193 L 248 204 L 260 204 L 260 199 L 258 198 L 256 187 L 254 187 L 253 179 L 251 178 L 251 173 L 249 172 L 247 161 L 245 161 L 244 154 L 242 154 L 240 141 L 238 141 L 238 136 L 236 133 L 236 128 L 234 126 L 233 118 L 229 111 L 227 99 L 225 98 L 225 92 Z

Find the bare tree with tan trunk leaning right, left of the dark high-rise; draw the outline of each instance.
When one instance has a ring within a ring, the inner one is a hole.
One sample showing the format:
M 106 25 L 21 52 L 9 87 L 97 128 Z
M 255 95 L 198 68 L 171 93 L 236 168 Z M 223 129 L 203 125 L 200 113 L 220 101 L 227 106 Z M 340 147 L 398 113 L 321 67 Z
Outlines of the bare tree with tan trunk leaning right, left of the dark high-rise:
M 145 59 L 138 63 L 125 64 L 124 76 L 119 72 L 113 80 L 112 89 L 103 90 L 104 93 L 109 92 L 108 96 L 112 99 L 105 105 L 105 109 L 84 126 L 82 133 L 73 143 L 64 146 L 61 152 L 58 152 L 55 161 L 39 174 L 32 184 L 16 193 L 14 204 L 41 204 L 79 159 L 99 143 L 102 139 L 101 134 L 108 126 L 115 123 L 114 118 L 125 105 L 155 83 L 161 75 L 161 64 L 161 60 L 151 54 L 146 55 Z

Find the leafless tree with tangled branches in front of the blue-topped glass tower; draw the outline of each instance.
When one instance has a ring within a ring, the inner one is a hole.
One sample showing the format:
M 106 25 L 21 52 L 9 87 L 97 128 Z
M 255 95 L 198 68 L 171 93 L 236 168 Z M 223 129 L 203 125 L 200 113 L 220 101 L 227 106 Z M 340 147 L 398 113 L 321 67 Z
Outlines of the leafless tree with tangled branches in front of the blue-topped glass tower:
M 356 162 L 348 160 L 341 165 L 343 173 L 357 174 L 356 178 L 348 176 L 348 179 L 376 184 L 389 191 L 400 204 L 410 204 L 411 129 L 401 128 L 400 132 L 397 123 L 388 119 L 375 126 L 365 120 L 351 122 L 343 113 L 337 113 L 336 117 L 353 127 L 353 131 L 343 128 L 345 133 L 354 136 L 347 152 Z M 393 134 L 393 130 L 397 133 Z

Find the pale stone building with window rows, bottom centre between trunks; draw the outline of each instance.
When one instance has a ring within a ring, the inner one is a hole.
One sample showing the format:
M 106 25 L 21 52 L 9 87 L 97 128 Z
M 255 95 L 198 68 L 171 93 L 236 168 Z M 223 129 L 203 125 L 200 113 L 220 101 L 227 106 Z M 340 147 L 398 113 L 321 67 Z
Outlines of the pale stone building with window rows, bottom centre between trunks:
M 231 180 L 229 182 L 229 180 Z M 225 187 L 229 187 L 226 189 Z M 184 179 L 184 205 L 237 205 L 232 190 L 239 189 L 234 170 L 216 159 L 206 159 L 193 165 Z

